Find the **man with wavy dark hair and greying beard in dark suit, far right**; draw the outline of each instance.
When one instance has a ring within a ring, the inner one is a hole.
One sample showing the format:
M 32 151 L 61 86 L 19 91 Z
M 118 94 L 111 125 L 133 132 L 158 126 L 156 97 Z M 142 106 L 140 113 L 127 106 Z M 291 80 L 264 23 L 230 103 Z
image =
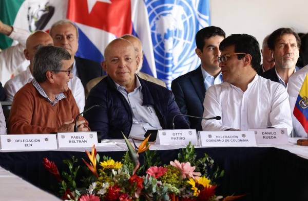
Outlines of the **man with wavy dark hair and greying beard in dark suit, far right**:
M 298 34 L 290 28 L 280 28 L 269 35 L 267 45 L 273 53 L 275 66 L 261 76 L 286 87 L 290 76 L 299 70 L 296 62 L 300 43 Z

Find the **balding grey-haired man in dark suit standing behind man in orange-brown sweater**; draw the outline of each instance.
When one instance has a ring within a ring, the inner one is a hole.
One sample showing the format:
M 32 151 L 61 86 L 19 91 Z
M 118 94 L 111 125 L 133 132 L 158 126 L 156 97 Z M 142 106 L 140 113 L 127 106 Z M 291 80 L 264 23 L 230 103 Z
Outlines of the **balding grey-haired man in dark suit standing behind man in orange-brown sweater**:
M 91 79 L 103 75 L 100 63 L 75 56 L 78 50 L 78 27 L 70 20 L 63 19 L 54 23 L 50 28 L 50 35 L 54 46 L 63 47 L 72 55 L 72 74 L 80 78 L 84 87 Z

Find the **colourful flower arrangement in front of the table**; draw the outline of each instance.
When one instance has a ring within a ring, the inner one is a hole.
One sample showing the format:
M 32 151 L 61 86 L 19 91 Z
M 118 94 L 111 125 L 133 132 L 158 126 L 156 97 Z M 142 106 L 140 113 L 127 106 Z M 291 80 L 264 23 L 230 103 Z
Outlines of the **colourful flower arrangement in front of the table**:
M 149 138 L 149 137 L 148 137 Z M 86 151 L 89 162 L 83 159 L 91 176 L 84 178 L 86 187 L 76 187 L 76 174 L 79 166 L 77 162 L 65 160 L 69 173 L 62 172 L 62 179 L 56 165 L 44 159 L 45 168 L 50 171 L 60 184 L 62 199 L 74 201 L 130 201 L 130 200 L 221 200 L 222 196 L 215 194 L 217 185 L 213 182 L 223 175 L 217 168 L 210 177 L 208 170 L 214 161 L 205 154 L 204 158 L 196 160 L 194 146 L 190 143 L 183 149 L 178 160 L 168 165 L 160 166 L 160 162 L 153 162 L 157 158 L 156 152 L 148 150 L 148 138 L 136 148 L 126 139 L 128 151 L 122 161 L 114 161 L 109 157 L 100 156 L 95 147 Z M 133 143 L 134 144 L 134 143 Z M 144 153 L 144 164 L 140 167 L 139 153 Z M 243 195 L 241 195 L 243 196 Z M 223 200 L 234 200 L 241 196 L 227 196 Z

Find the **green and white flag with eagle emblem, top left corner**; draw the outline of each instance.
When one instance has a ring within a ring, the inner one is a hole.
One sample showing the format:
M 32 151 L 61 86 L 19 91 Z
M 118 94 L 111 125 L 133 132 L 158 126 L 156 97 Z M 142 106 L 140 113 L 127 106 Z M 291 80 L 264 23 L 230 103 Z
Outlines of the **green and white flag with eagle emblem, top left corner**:
M 63 0 L 0 0 L 0 20 L 30 32 L 48 30 L 52 23 L 66 18 L 66 11 L 67 1 Z M 12 39 L 0 34 L 0 49 L 12 43 Z

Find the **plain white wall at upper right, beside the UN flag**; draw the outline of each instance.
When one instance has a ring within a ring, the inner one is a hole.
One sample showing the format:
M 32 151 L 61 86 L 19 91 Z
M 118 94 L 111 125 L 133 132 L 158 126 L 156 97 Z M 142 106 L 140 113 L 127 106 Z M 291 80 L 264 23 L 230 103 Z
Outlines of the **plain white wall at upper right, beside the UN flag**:
M 280 27 L 308 32 L 307 0 L 210 0 L 211 25 L 226 36 L 246 33 L 262 46 L 263 38 Z M 261 48 L 261 47 L 260 47 Z

